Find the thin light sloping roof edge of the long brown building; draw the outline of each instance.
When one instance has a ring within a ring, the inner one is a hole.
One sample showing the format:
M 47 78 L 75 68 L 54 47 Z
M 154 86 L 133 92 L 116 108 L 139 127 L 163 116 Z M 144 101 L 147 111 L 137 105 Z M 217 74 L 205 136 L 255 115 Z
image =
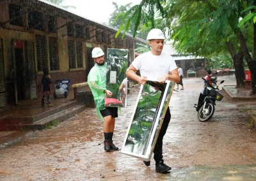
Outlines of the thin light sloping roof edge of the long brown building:
M 77 17 L 80 17 L 80 18 L 83 18 L 84 20 L 87 20 L 87 21 L 90 21 L 92 22 L 93 24 L 96 24 L 96 25 L 99 25 L 99 26 L 102 26 L 103 28 L 108 28 L 108 29 L 111 29 L 112 31 L 115 31 L 117 32 L 118 29 L 116 29 L 115 27 L 112 27 L 111 25 L 106 25 L 106 24 L 100 24 L 99 22 L 95 22 L 94 20 L 88 18 L 88 17 L 84 17 L 83 15 L 80 15 L 79 13 L 76 13 L 75 11 L 70 11 L 70 10 L 67 10 L 61 6 L 59 6 L 58 4 L 54 4 L 54 3 L 51 3 L 49 1 L 46 1 L 46 0 L 28 0 L 28 1 L 34 1 L 34 2 L 38 2 L 38 3 L 44 3 L 44 4 L 47 4 L 49 6 L 53 6 L 54 8 L 58 8 L 60 10 L 63 10 L 63 11 L 67 11 L 67 13 L 70 13 L 72 15 L 75 15 Z M 132 38 L 132 39 L 135 39 L 136 41 L 140 41 L 141 43 L 145 43 L 147 40 L 143 40 L 142 38 L 139 38 L 139 37 L 135 37 L 133 38 L 133 36 L 129 33 L 125 33 L 126 36 L 128 36 L 129 38 Z

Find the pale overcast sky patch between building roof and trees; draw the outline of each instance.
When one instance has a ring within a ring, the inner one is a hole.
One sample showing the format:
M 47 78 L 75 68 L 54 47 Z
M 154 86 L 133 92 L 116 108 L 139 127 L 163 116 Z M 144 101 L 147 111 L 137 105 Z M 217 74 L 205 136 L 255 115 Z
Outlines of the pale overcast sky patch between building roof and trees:
M 109 15 L 115 11 L 112 2 L 119 5 L 128 3 L 139 4 L 141 0 L 66 0 L 65 5 L 76 6 L 75 11 L 83 17 L 86 17 L 95 22 L 104 23 L 108 22 Z

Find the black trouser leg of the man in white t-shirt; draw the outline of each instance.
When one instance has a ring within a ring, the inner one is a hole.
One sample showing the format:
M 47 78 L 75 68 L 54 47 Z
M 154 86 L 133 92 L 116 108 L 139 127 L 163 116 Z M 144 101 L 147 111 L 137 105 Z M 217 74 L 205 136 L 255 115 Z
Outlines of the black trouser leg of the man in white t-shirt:
M 168 124 L 171 120 L 171 113 L 170 113 L 170 108 L 167 108 L 167 111 L 164 116 L 163 124 L 160 130 L 160 133 L 158 135 L 156 145 L 154 148 L 154 159 L 156 163 L 159 163 L 159 161 L 163 161 L 163 138 L 164 134 L 166 133 L 166 130 L 168 128 Z

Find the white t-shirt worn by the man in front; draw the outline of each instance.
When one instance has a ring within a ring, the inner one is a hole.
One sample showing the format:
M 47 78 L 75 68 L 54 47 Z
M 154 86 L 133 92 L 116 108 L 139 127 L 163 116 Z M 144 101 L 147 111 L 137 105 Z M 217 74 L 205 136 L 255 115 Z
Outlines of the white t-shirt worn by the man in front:
M 157 81 L 159 76 L 169 74 L 169 72 L 177 69 L 176 63 L 171 55 L 161 52 L 161 55 L 153 55 L 146 52 L 134 59 L 132 65 L 140 70 L 141 76 L 147 76 L 148 80 Z

